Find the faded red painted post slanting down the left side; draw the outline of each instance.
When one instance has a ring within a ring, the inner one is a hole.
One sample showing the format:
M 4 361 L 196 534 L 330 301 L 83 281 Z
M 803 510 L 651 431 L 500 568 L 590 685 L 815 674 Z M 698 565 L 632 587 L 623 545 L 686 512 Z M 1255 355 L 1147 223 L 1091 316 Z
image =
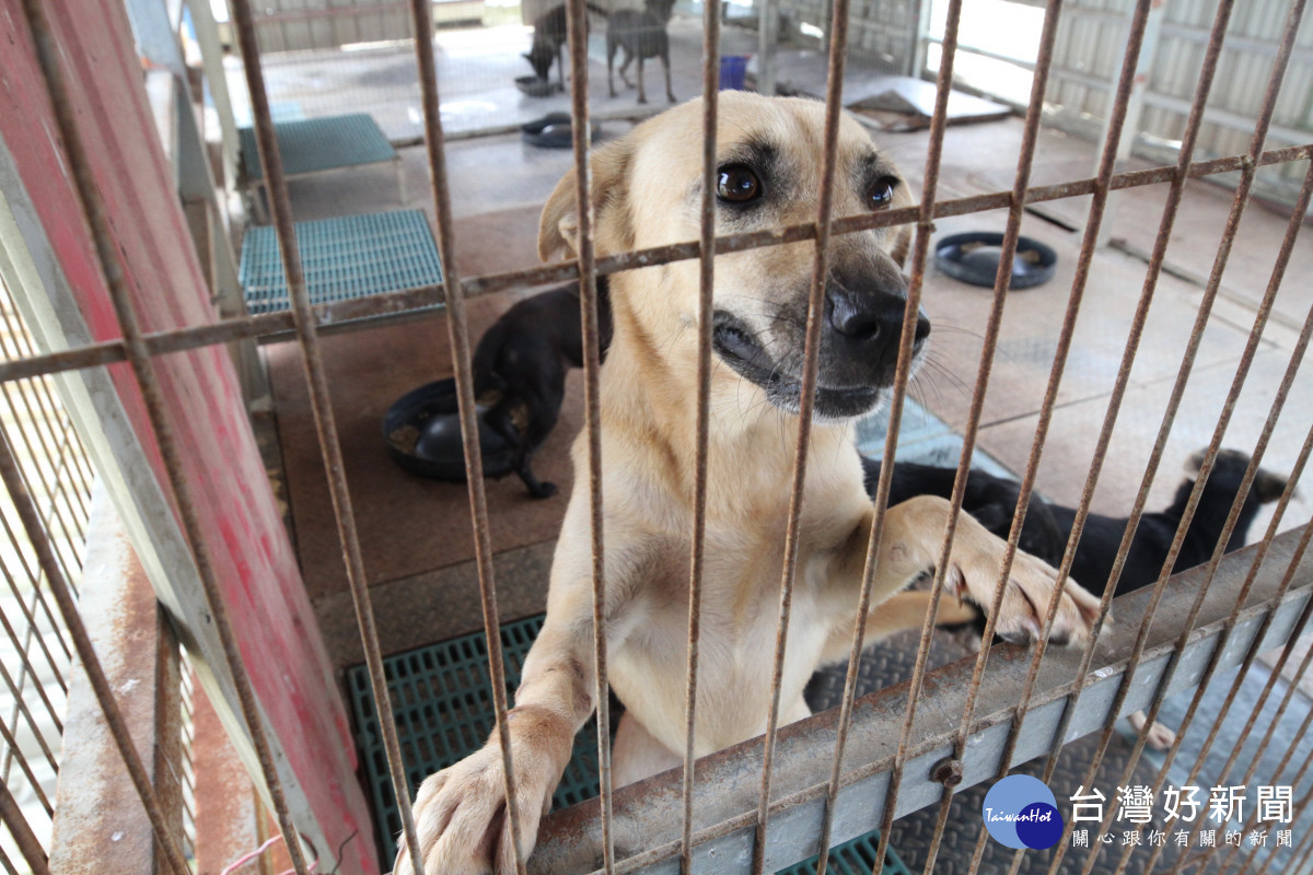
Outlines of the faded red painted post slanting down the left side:
M 215 319 L 118 3 L 46 0 L 96 181 L 147 332 Z M 119 336 L 68 174 L 45 79 L 18 0 L 0 0 L 0 135 L 37 205 L 87 324 Z M 377 871 L 368 807 L 355 778 L 345 710 L 332 683 L 295 555 L 274 504 L 223 346 L 155 359 L 185 476 L 252 682 L 331 849 L 353 832 L 344 872 Z M 110 369 L 156 478 L 167 478 L 127 365 Z M 200 596 L 198 596 L 200 597 Z M 323 871 L 331 863 L 322 866 Z

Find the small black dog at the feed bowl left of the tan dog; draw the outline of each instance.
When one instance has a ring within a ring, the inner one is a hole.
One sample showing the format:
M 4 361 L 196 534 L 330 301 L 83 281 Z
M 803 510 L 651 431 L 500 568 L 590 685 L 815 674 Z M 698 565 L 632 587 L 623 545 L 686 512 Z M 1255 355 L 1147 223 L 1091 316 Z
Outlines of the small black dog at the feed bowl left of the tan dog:
M 605 277 L 597 277 L 597 323 L 605 354 L 611 342 Z M 529 460 L 557 425 L 571 367 L 583 367 L 576 282 L 520 300 L 474 349 L 474 395 L 488 408 L 483 421 L 515 447 L 515 472 L 534 499 L 557 493 L 555 484 L 533 475 Z

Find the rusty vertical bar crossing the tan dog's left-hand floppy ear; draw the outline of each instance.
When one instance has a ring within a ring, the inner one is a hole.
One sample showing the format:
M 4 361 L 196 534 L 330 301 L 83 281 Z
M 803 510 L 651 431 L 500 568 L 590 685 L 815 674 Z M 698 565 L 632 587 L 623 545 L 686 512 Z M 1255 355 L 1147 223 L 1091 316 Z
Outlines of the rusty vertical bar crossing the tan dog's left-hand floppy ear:
M 611 702 L 607 681 L 605 544 L 601 495 L 601 340 L 597 316 L 597 270 L 593 240 L 592 173 L 588 164 L 588 9 L 584 0 L 569 0 L 571 138 L 575 160 L 575 215 L 579 234 L 579 319 L 584 357 L 584 430 L 588 436 L 588 529 L 592 546 L 592 653 L 593 699 L 597 708 L 597 783 L 601 804 L 603 870 L 616 867 L 611 836 Z

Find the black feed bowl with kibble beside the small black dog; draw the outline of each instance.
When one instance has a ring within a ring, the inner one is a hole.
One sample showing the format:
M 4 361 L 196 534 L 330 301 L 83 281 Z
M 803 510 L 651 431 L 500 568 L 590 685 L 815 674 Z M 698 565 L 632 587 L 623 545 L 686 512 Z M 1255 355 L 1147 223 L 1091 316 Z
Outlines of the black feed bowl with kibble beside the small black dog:
M 383 442 L 389 455 L 411 474 L 465 483 L 456 380 L 425 383 L 397 399 L 383 416 Z M 479 408 L 479 446 L 483 476 L 511 472 L 515 447 L 483 422 L 483 408 Z

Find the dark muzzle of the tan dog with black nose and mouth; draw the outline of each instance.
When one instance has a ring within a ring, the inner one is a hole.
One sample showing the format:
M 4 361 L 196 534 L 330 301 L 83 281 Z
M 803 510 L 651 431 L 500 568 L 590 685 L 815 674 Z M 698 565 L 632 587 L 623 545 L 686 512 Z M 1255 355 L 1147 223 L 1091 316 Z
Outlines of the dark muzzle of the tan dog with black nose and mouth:
M 885 291 L 827 290 L 821 327 L 815 416 L 851 418 L 874 411 L 893 386 L 906 298 Z M 784 320 L 780 320 L 781 323 Z M 918 314 L 913 362 L 930 336 L 930 320 Z M 738 316 L 716 311 L 712 346 L 741 376 L 760 386 L 776 407 L 797 413 L 802 396 L 805 335 L 772 337 L 763 344 Z M 772 356 L 767 346 L 776 350 Z

